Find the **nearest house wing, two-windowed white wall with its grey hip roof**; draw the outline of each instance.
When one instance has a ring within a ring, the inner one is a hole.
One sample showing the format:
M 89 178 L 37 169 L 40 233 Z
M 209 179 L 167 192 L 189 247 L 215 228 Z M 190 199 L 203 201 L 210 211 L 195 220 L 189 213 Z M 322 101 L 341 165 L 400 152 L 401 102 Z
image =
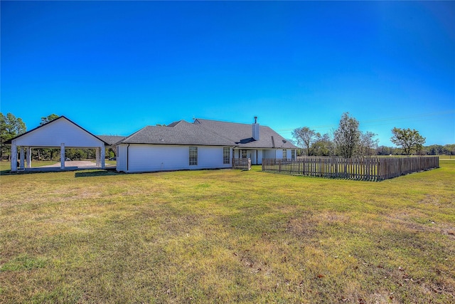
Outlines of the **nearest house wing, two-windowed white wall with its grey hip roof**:
M 117 171 L 232 167 L 235 142 L 184 120 L 148 126 L 117 142 Z

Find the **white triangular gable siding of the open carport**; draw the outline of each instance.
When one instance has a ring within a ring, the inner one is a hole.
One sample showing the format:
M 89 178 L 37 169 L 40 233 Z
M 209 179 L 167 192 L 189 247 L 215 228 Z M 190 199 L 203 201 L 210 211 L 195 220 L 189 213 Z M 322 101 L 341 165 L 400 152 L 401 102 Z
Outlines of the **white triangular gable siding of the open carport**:
M 16 139 L 16 145 L 28 147 L 104 147 L 104 143 L 77 125 L 60 118 Z

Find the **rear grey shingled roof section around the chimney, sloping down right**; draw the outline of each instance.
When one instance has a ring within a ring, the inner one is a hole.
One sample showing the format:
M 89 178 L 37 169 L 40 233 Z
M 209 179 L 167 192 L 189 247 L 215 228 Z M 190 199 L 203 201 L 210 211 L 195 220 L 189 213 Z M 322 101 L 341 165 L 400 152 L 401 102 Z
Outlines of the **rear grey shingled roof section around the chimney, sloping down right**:
M 259 140 L 255 140 L 252 138 L 252 125 L 249 124 L 202 119 L 196 119 L 194 124 L 232 140 L 238 147 L 296 149 L 291 142 L 270 127 L 263 125 L 259 125 Z

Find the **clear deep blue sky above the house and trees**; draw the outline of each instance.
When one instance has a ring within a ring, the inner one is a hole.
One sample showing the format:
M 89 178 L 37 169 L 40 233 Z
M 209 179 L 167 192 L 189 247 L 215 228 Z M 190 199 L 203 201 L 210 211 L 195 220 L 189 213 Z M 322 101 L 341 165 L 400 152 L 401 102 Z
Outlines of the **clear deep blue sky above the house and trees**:
M 343 112 L 455 143 L 455 2 L 1 1 L 1 112 L 96 135 L 193 117 L 291 138 Z

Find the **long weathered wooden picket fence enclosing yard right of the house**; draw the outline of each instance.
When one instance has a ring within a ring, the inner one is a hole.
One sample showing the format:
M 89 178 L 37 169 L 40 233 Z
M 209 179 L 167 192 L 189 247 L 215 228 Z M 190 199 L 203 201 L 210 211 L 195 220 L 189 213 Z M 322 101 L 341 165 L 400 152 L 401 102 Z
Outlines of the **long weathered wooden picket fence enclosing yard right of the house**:
M 262 171 L 311 177 L 381 181 L 439 168 L 439 157 L 304 157 L 262 159 Z

